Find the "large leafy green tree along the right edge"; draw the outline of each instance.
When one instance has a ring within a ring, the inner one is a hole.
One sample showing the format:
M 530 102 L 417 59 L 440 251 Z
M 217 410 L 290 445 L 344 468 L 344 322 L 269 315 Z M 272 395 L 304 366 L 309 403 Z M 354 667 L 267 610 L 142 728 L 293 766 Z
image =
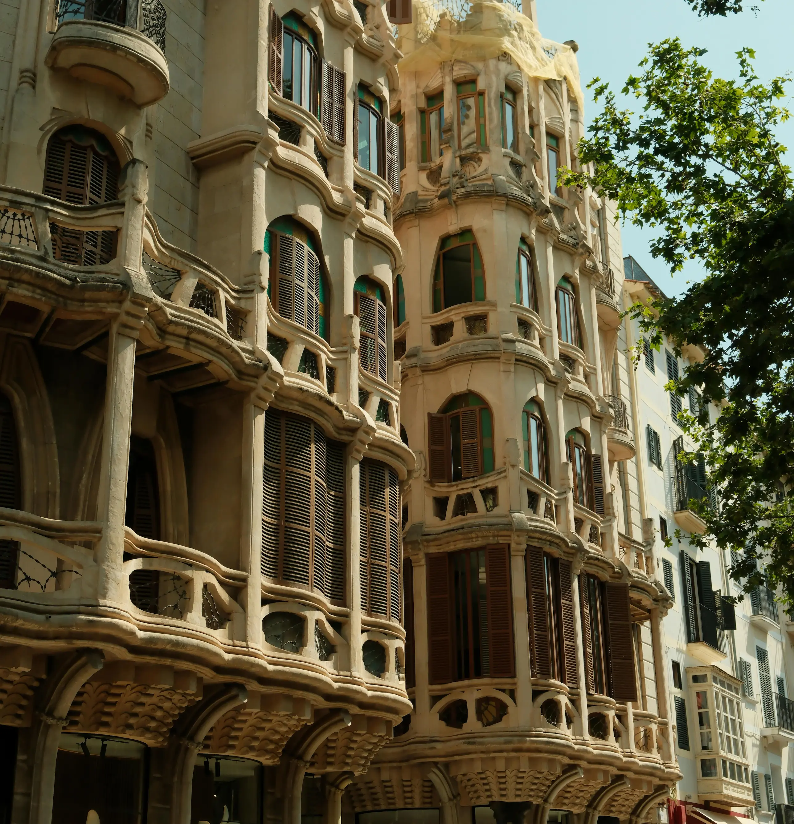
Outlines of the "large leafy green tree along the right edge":
M 594 187 L 624 218 L 655 227 L 651 253 L 671 272 L 688 259 L 705 267 L 681 297 L 632 315 L 656 347 L 666 335 L 678 351 L 686 343 L 705 353 L 670 386 L 702 391 L 700 413 L 682 424 L 721 501 L 716 511 L 694 504 L 707 532 L 693 542 L 739 553 L 731 577 L 745 591 L 765 579 L 794 603 L 794 497 L 783 494 L 794 487 L 794 202 L 775 138 L 788 118 L 788 78 L 760 82 L 745 49 L 739 79 L 723 80 L 704 54 L 677 39 L 651 45 L 623 88 L 641 101 L 637 113 L 594 80 L 603 110 L 579 157 L 595 171 L 566 182 Z

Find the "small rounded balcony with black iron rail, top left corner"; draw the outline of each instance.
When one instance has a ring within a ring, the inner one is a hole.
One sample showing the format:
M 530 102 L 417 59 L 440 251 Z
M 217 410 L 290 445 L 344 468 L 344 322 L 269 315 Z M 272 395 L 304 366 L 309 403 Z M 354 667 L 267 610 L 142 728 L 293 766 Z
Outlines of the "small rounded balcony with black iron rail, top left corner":
M 161 0 L 56 0 L 45 62 L 77 80 L 152 105 L 170 84 Z

